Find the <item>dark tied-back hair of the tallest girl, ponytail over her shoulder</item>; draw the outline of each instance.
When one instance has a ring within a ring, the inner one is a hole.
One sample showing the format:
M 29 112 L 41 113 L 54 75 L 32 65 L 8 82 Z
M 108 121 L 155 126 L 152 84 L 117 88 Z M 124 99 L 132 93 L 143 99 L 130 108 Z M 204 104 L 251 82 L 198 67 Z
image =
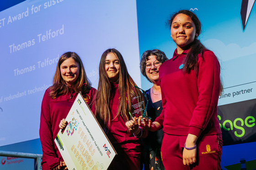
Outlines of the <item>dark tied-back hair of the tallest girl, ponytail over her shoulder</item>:
M 197 15 L 195 15 L 193 12 L 189 10 L 180 10 L 173 14 L 171 16 L 171 19 L 168 21 L 168 25 L 171 28 L 172 21 L 178 14 L 185 14 L 191 18 L 191 20 L 194 22 L 196 25 L 196 35 L 194 41 L 188 45 L 187 49 L 190 49 L 186 55 L 186 57 L 183 60 L 184 67 L 183 70 L 186 72 L 190 72 L 191 70 L 194 70 L 195 73 L 197 74 L 198 68 L 197 68 L 197 61 L 198 61 L 198 55 L 203 56 L 203 51 L 207 50 L 207 48 L 201 43 L 200 40 L 198 40 L 198 36 L 202 32 L 202 25 L 200 20 L 197 18 Z M 220 78 L 221 79 L 221 78 Z M 220 94 L 223 91 L 223 85 L 222 81 L 220 81 Z

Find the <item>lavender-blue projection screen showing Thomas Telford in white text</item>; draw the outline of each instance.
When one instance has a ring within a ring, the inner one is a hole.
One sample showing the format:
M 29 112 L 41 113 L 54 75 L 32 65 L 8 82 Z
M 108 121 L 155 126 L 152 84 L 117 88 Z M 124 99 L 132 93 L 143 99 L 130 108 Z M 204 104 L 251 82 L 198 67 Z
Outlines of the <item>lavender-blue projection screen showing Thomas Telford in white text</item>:
M 42 154 L 41 102 L 59 57 L 67 51 L 78 53 L 97 89 L 99 61 L 108 48 L 121 52 L 141 87 L 136 0 L 25 0 L 2 10 L 0 150 Z M 29 143 L 34 149 L 28 150 Z M 26 162 L 0 159 L 0 169 L 20 169 Z

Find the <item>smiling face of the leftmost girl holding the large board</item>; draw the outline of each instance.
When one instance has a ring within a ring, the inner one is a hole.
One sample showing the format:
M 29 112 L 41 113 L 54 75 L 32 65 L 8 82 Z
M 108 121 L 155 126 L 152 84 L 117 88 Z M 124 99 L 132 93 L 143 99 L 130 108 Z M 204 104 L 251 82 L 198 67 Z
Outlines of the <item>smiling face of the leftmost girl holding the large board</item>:
M 61 77 L 68 85 L 73 85 L 79 76 L 79 69 L 79 64 L 70 57 L 60 65 Z

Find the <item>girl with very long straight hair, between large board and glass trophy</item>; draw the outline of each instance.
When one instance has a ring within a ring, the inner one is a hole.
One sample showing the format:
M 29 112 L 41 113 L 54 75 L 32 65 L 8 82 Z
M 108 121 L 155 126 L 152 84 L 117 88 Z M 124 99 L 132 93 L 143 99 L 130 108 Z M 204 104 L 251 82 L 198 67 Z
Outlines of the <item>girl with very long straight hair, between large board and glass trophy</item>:
M 116 49 L 106 50 L 99 65 L 99 85 L 95 100 L 95 114 L 117 151 L 108 170 L 140 170 L 140 139 L 145 129 L 135 125 L 129 130 L 125 123 L 131 119 L 133 105 L 143 101 L 143 94 L 128 74 L 123 56 Z M 142 113 L 132 116 L 134 120 Z M 140 119 L 140 118 L 139 118 Z

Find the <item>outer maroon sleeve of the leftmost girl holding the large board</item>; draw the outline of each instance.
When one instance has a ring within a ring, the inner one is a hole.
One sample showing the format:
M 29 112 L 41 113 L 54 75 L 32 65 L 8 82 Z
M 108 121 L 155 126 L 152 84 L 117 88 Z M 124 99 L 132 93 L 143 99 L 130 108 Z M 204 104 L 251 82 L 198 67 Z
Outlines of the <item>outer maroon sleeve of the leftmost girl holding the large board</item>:
M 49 168 L 53 169 L 55 166 L 59 165 L 60 159 L 56 156 L 56 150 L 54 149 L 49 100 L 49 93 L 48 90 L 46 90 L 41 106 L 39 135 L 42 144 L 43 156 L 45 157 Z

